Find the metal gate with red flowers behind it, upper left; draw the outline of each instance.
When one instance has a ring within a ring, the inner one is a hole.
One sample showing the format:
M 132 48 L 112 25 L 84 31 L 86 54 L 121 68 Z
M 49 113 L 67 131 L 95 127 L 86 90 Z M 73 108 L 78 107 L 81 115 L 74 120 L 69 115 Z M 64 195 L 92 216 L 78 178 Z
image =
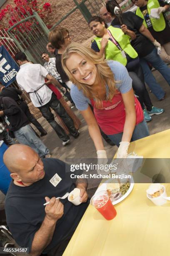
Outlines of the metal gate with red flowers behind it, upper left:
M 23 12 L 16 14 L 15 20 L 17 22 L 8 29 L 7 33 L 30 61 L 43 64 L 41 53 L 48 43 L 49 33 L 45 23 L 36 12 L 31 15 L 24 8 Z

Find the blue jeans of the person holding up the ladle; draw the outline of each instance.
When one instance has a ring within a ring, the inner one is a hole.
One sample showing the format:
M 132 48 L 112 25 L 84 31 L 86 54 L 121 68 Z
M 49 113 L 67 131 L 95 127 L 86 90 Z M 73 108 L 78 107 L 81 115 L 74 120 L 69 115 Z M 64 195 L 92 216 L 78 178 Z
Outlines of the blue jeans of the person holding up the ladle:
M 170 68 L 163 62 L 160 56 L 157 54 L 157 49 L 155 48 L 150 54 L 140 59 L 140 64 L 143 68 L 143 73 L 145 76 L 145 82 L 148 84 L 150 90 L 158 98 L 162 99 L 165 95 L 165 91 L 160 87 L 160 84 L 156 81 L 153 73 L 151 72 L 147 62 L 150 62 L 152 66 L 157 69 L 160 74 L 165 78 L 165 80 L 170 85 Z

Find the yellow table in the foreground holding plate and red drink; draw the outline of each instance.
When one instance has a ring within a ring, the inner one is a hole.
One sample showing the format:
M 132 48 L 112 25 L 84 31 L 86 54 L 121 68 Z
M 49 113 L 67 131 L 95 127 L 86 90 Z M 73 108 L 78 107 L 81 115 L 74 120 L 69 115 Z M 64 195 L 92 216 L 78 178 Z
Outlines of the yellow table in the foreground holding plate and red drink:
M 145 158 L 170 158 L 170 130 L 130 143 L 129 152 Z M 165 184 L 170 195 L 170 184 Z M 64 256 L 170 255 L 170 202 L 155 206 L 146 197 L 148 184 L 135 184 L 115 205 L 117 216 L 105 220 L 89 205 Z

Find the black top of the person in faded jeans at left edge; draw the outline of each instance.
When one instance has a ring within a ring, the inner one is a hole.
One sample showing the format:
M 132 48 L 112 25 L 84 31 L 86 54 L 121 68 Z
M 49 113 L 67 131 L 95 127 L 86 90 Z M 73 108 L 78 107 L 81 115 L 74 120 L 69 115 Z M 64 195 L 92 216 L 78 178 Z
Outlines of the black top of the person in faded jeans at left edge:
M 21 127 L 30 123 L 23 110 L 10 97 L 0 97 L 0 109 L 3 110 L 4 115 L 2 119 L 10 131 L 18 131 Z

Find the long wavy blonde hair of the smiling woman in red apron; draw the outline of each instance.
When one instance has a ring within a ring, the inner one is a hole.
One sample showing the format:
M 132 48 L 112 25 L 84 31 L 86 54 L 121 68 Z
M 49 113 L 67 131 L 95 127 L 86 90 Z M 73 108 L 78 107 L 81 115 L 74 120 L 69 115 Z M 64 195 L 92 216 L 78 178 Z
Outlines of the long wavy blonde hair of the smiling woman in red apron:
M 96 54 L 95 51 L 88 48 L 87 46 L 82 46 L 78 43 L 71 43 L 67 46 L 64 53 L 62 54 L 62 67 L 69 77 L 70 81 L 73 84 L 76 84 L 79 90 L 82 90 L 83 94 L 89 99 L 95 99 L 95 107 L 102 108 L 102 99 L 97 96 L 97 92 L 92 89 L 92 86 L 87 84 L 82 84 L 75 80 L 74 76 L 67 69 L 66 61 L 71 54 L 77 53 L 83 56 L 87 61 L 90 61 L 92 64 L 95 64 L 97 68 L 97 77 L 101 84 L 107 84 L 109 92 L 107 94 L 106 100 L 111 101 L 113 96 L 116 93 L 115 79 L 114 74 L 112 73 L 110 67 L 107 64 L 107 61 L 104 60 L 104 56 Z

